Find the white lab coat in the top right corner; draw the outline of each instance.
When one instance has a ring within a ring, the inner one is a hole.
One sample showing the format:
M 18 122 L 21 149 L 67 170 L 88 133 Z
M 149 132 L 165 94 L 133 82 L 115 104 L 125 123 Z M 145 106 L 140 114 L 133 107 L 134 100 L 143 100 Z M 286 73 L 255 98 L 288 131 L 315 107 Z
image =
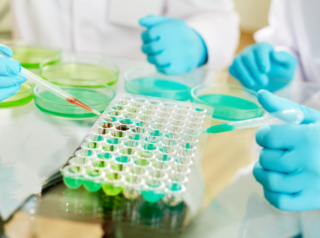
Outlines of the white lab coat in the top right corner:
M 298 58 L 297 80 L 320 82 L 319 12 L 319 0 L 272 0 L 269 25 L 254 34 L 255 41 Z

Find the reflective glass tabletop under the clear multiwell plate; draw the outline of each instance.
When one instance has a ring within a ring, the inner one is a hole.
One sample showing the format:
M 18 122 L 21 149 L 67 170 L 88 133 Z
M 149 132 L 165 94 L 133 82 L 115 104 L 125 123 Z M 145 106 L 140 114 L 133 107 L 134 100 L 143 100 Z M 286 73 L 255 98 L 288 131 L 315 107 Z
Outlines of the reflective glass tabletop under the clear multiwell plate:
M 122 75 L 146 65 L 132 59 L 111 60 Z M 122 75 L 118 92 L 124 91 Z M 200 75 L 205 82 L 235 83 L 211 71 Z M 294 82 L 276 94 L 320 109 L 318 85 Z M 161 201 L 147 204 L 121 195 L 110 199 L 101 192 L 70 190 L 59 182 L 57 169 L 96 118 L 61 120 L 38 111 L 33 101 L 5 110 L 0 111 L 0 211 L 6 222 L 0 223 L 0 238 L 313 238 L 320 234 L 320 211 L 283 212 L 264 199 L 252 175 L 260 150 L 254 143 L 256 129 L 209 135 L 193 198 L 168 208 Z M 42 184 L 35 183 L 38 179 Z

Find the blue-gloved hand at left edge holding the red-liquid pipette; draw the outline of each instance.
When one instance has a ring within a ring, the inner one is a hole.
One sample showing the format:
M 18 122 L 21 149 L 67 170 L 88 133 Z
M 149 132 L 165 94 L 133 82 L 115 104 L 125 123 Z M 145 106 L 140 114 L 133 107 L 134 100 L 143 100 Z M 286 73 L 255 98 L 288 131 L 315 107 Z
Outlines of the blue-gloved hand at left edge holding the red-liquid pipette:
M 12 57 L 12 50 L 0 44 L 0 51 Z M 21 66 L 18 61 L 0 55 L 0 102 L 16 94 L 26 78 L 19 75 Z

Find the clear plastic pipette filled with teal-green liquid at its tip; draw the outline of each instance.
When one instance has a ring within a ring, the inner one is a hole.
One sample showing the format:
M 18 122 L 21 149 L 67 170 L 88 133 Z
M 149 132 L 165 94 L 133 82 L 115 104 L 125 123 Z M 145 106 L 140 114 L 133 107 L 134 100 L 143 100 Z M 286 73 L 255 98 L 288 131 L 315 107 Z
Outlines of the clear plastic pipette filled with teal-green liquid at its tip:
M 265 114 L 263 117 L 252 118 L 243 121 L 235 121 L 226 124 L 211 126 L 190 133 L 189 135 L 200 135 L 205 133 L 220 133 L 245 128 L 259 127 L 265 125 L 300 124 L 304 120 L 303 112 L 299 109 L 290 109 Z

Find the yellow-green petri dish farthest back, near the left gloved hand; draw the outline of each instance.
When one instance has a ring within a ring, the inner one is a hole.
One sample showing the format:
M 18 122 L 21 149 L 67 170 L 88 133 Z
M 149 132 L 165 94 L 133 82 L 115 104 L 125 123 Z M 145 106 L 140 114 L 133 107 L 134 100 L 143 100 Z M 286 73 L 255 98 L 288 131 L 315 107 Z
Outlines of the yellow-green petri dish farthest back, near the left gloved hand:
M 22 40 L 4 41 L 2 44 L 10 47 L 13 51 L 13 59 L 17 60 L 22 67 L 37 69 L 39 64 L 46 58 L 59 59 L 61 50 L 42 44 L 29 43 Z

